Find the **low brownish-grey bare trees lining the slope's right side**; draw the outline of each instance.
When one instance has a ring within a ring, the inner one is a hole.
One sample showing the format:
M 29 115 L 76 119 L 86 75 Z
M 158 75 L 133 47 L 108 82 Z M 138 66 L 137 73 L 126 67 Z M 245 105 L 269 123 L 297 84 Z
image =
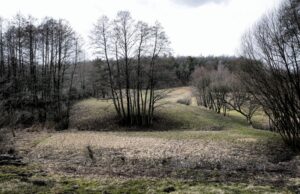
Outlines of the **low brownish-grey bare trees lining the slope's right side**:
M 199 105 L 223 113 L 224 116 L 228 109 L 235 110 L 252 125 L 252 117 L 259 106 L 236 73 L 219 64 L 217 69 L 197 68 L 192 78 L 192 84 L 198 91 Z

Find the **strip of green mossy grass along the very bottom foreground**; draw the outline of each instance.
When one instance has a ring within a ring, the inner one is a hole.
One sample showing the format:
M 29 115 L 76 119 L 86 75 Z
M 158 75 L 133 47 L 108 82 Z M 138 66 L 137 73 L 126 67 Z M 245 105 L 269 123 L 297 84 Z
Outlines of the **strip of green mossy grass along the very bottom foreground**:
M 20 172 L 32 169 L 3 167 L 0 174 L 0 193 L 292 193 L 288 188 L 248 185 L 244 183 L 205 183 L 203 181 L 183 181 L 177 179 L 87 179 L 65 176 L 42 176 L 36 173 L 23 179 Z M 11 172 L 9 173 L 9 171 Z

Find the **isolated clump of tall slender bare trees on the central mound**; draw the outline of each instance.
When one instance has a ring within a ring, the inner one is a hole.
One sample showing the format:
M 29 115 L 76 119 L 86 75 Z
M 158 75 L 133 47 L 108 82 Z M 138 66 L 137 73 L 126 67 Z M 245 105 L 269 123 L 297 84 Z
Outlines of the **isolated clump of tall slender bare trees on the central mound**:
M 114 20 L 103 16 L 92 33 L 98 56 L 105 61 L 110 93 L 118 117 L 127 125 L 150 125 L 161 92 L 159 57 L 168 54 L 162 26 L 136 22 L 121 11 Z

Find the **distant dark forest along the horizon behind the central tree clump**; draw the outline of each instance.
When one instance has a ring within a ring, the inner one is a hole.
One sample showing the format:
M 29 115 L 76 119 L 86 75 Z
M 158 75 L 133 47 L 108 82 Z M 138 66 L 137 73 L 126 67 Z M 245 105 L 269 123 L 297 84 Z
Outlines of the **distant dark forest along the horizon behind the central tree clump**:
M 232 72 L 240 66 L 243 60 L 239 57 L 174 57 L 160 56 L 159 79 L 156 87 L 159 89 L 189 86 L 193 82 L 193 73 L 197 68 L 217 69 L 224 66 Z M 93 96 L 109 98 L 108 69 L 105 61 L 95 59 L 80 63 L 75 74 L 74 86 L 81 97 Z

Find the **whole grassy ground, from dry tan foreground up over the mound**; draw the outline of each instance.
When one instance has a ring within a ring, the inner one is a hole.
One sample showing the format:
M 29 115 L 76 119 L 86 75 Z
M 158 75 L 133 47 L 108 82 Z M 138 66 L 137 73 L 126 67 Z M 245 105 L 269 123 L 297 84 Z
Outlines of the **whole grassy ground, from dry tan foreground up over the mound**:
M 0 193 L 300 192 L 300 157 L 277 134 L 196 106 L 191 88 L 164 103 L 147 129 L 112 124 L 111 102 L 87 99 L 73 106 L 68 131 L 17 133 L 27 165 L 0 166 Z

